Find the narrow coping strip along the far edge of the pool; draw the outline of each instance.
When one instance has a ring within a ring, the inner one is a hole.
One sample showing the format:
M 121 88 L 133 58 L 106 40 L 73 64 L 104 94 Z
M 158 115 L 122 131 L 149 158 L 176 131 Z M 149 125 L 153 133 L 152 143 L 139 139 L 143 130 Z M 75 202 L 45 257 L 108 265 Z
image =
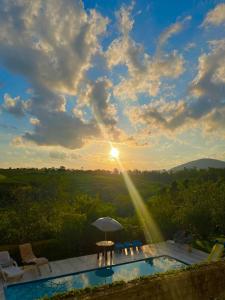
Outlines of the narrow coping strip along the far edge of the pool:
M 108 269 L 108 268 L 112 268 L 112 267 L 116 267 L 116 266 L 127 265 L 127 264 L 131 264 L 131 263 L 135 263 L 135 262 L 140 262 L 140 261 L 145 261 L 145 260 L 160 258 L 160 257 L 167 257 L 167 258 L 170 258 L 170 259 L 174 259 L 174 260 L 176 260 L 176 261 L 178 261 L 178 262 L 180 262 L 180 263 L 182 263 L 186 266 L 190 265 L 190 264 L 188 264 L 188 263 L 186 263 L 186 262 L 184 262 L 180 259 L 177 259 L 175 257 L 172 257 L 170 255 L 149 256 L 149 257 L 145 257 L 145 258 L 141 258 L 141 259 L 137 259 L 137 260 L 133 260 L 133 261 L 122 262 L 122 263 L 118 263 L 118 264 L 114 264 L 114 265 L 108 265 L 108 266 L 99 267 L 99 268 L 86 269 L 86 270 L 83 270 L 83 271 L 71 272 L 71 273 L 67 273 L 67 274 L 63 274 L 63 275 L 56 275 L 56 276 L 50 276 L 50 277 L 40 278 L 40 279 L 35 279 L 35 280 L 28 280 L 26 282 L 11 283 L 11 284 L 8 284 L 8 285 L 3 287 L 5 299 L 7 300 L 6 291 L 10 287 L 20 286 L 20 285 L 27 285 L 27 284 L 31 284 L 31 283 L 37 283 L 37 282 L 43 282 L 43 281 L 48 281 L 48 280 L 51 280 L 51 279 L 57 279 L 57 278 L 62 278 L 62 277 L 67 277 L 67 276 L 72 276 L 72 275 L 79 275 L 79 274 L 86 273 L 86 272 L 104 270 L 104 269 Z M 162 274 L 163 273 L 164 272 L 162 272 Z M 153 275 L 154 274 L 149 274 L 147 276 L 153 276 Z

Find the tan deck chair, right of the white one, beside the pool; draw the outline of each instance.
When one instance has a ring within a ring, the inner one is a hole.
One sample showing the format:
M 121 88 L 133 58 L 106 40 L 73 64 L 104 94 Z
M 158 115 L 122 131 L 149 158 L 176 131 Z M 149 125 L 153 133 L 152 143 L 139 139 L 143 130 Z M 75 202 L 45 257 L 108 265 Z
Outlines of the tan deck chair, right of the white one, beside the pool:
M 35 265 L 39 275 L 41 275 L 40 266 L 43 265 L 48 265 L 50 272 L 52 272 L 52 268 L 49 264 L 48 259 L 46 257 L 36 257 L 33 253 L 32 246 L 30 243 L 19 245 L 19 249 L 22 262 L 25 265 Z

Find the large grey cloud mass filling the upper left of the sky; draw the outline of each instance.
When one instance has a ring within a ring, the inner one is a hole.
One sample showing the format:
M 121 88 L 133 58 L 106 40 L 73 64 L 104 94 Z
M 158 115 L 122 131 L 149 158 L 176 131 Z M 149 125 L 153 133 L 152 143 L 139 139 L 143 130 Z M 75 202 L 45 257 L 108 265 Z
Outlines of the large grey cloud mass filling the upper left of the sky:
M 4 109 L 39 120 L 24 140 L 71 148 L 98 134 L 95 122 L 88 124 L 66 111 L 66 96 L 79 94 L 93 57 L 101 51 L 99 37 L 107 23 L 95 10 L 87 13 L 81 1 L 1 3 L 0 63 L 32 87 L 28 108 L 19 97 L 6 96 Z

